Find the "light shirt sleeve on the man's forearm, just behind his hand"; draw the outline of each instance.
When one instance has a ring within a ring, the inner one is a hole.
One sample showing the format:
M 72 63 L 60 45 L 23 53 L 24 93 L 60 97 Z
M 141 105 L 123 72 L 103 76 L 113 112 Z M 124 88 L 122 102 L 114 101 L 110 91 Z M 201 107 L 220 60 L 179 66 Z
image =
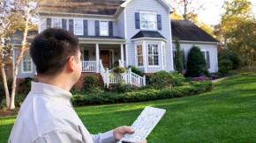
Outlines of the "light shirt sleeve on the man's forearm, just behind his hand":
M 114 138 L 113 130 L 109 132 L 92 134 L 94 143 L 115 143 L 117 140 Z

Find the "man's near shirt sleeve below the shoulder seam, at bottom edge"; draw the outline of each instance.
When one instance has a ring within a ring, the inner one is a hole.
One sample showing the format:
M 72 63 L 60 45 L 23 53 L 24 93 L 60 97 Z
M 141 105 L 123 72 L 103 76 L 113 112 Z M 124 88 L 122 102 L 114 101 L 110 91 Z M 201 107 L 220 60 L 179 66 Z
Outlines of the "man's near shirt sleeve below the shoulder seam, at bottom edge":
M 43 134 L 34 143 L 84 143 L 79 133 L 70 131 L 52 131 Z

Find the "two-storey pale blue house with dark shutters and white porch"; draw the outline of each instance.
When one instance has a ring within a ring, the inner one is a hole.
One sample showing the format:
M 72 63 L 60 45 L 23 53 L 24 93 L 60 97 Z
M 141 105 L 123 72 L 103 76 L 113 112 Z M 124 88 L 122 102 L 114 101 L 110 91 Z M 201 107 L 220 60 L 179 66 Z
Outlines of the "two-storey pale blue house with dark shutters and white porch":
M 169 19 L 172 10 L 165 0 L 42 0 L 39 7 L 39 32 L 56 27 L 78 36 L 83 55 L 82 75 L 101 76 L 107 85 L 122 81 L 144 86 L 145 76 L 131 70 L 114 74 L 111 71 L 114 64 L 124 68 L 135 66 L 145 75 L 160 70 L 174 71 L 172 31 L 175 30 L 171 30 L 174 28 Z M 208 46 L 207 41 L 182 42 L 184 48 L 194 44 L 204 49 L 213 48 L 209 51 L 210 59 L 217 63 L 216 54 L 212 54 L 216 47 Z M 34 69 L 26 54 L 18 77 L 34 76 Z M 216 67 L 209 69 L 217 71 Z

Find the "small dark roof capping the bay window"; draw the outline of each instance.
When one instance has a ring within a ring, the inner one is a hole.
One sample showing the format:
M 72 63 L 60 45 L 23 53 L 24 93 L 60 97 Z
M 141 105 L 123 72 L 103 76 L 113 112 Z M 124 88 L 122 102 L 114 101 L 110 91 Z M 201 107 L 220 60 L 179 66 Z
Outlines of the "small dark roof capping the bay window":
M 165 39 L 160 32 L 155 31 L 139 31 L 132 37 L 132 39 L 141 38 Z

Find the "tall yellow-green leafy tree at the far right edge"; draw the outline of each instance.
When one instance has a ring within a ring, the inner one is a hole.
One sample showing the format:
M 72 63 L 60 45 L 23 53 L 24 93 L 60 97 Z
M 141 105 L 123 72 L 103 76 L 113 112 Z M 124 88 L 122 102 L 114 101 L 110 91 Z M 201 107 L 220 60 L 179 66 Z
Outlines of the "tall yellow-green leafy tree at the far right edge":
M 224 8 L 219 39 L 252 70 L 256 61 L 256 20 L 252 16 L 252 4 L 248 0 L 232 0 L 226 1 Z

